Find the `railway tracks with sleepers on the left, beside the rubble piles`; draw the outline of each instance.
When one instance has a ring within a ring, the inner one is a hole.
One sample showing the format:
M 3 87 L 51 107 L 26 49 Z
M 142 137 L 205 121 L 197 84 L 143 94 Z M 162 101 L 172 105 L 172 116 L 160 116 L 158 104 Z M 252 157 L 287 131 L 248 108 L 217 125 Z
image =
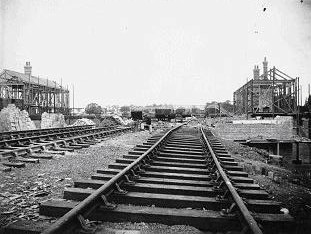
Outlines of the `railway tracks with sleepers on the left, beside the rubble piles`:
M 0 134 L 1 169 L 9 171 L 11 167 L 25 167 L 26 163 L 38 163 L 39 159 L 51 159 L 52 154 L 86 148 L 107 135 L 130 129 L 116 126 L 95 128 L 87 125 L 4 132 Z

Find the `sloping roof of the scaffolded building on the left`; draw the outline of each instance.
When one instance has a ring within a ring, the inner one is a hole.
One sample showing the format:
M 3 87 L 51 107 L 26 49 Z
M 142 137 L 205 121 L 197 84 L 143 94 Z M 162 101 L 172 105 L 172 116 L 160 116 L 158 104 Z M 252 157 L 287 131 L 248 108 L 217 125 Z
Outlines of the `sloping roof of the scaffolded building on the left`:
M 46 86 L 50 88 L 56 88 L 56 89 L 61 89 L 61 86 L 57 84 L 56 82 L 36 76 L 28 76 L 24 73 L 16 72 L 16 71 L 11 71 L 4 69 L 3 72 L 0 74 L 0 83 L 3 81 L 8 81 L 12 78 L 17 79 L 20 82 L 23 83 L 30 83 L 30 84 L 39 84 L 41 86 Z M 64 89 L 64 87 L 62 87 Z

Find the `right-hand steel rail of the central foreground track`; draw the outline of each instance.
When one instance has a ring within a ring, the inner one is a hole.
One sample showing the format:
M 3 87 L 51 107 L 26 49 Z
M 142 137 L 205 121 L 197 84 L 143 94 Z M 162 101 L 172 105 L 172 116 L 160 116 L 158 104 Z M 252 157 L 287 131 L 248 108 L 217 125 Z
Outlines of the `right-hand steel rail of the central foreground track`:
M 203 136 L 203 139 L 204 139 L 204 142 L 206 143 L 211 155 L 212 155 L 212 158 L 213 158 L 213 161 L 217 167 L 217 170 L 220 174 L 220 176 L 222 177 L 225 185 L 227 186 L 229 192 L 231 193 L 231 196 L 235 202 L 235 204 L 237 205 L 237 207 L 239 208 L 240 212 L 241 212 L 241 215 L 242 215 L 242 218 L 244 220 L 244 222 L 246 223 L 247 227 L 249 228 L 249 230 L 252 232 L 252 233 L 255 233 L 255 234 L 262 234 L 262 231 L 261 229 L 259 228 L 257 222 L 255 221 L 255 219 L 253 218 L 253 216 L 250 214 L 249 210 L 247 209 L 247 207 L 245 206 L 242 198 L 240 197 L 240 195 L 238 194 L 238 192 L 236 191 L 236 189 L 234 188 L 234 186 L 232 185 L 232 183 L 230 182 L 228 176 L 226 175 L 226 173 L 224 172 L 224 170 L 222 169 L 209 141 L 207 140 L 206 136 L 205 136 L 205 133 L 204 133 L 204 130 L 203 128 L 201 127 L 201 133 L 202 133 L 202 136 Z

